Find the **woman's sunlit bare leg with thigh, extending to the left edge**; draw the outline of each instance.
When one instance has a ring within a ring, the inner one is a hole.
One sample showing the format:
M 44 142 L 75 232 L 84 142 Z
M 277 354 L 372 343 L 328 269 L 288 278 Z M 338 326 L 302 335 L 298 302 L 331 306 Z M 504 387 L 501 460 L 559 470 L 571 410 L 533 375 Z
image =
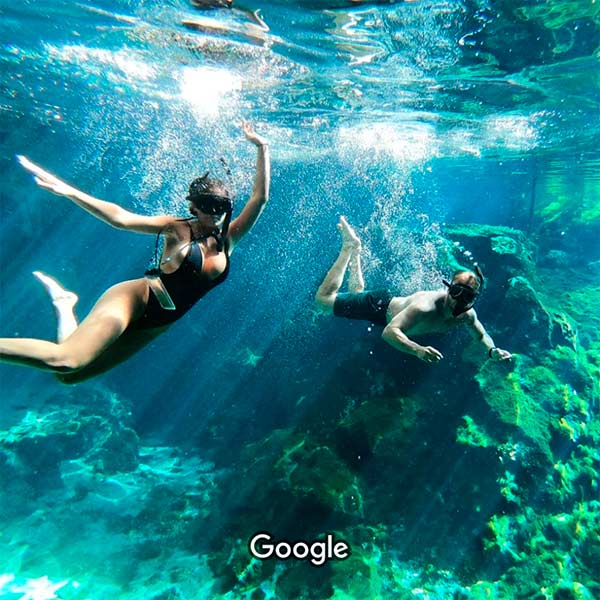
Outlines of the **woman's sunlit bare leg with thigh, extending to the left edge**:
M 63 342 L 0 339 L 0 360 L 47 371 L 68 373 L 89 365 L 121 336 L 148 302 L 144 279 L 125 281 L 100 297 L 90 314 Z

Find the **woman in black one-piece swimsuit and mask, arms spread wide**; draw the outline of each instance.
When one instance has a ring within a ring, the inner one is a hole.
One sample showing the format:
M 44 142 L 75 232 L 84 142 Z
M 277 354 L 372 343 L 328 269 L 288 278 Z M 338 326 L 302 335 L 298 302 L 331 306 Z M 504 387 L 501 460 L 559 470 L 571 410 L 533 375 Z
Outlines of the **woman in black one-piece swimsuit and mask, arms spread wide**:
M 231 220 L 232 198 L 224 184 L 208 177 L 194 179 L 187 200 L 191 219 L 138 215 L 99 200 L 61 181 L 24 156 L 20 163 L 36 183 L 66 196 L 98 219 L 118 229 L 157 236 L 155 265 L 140 279 L 108 289 L 77 325 L 77 296 L 52 278 L 36 272 L 51 295 L 58 316 L 58 343 L 38 339 L 0 339 L 0 360 L 54 372 L 73 383 L 107 371 L 145 346 L 185 314 L 209 290 L 225 280 L 229 256 L 256 223 L 268 198 L 270 160 L 265 139 L 244 122 L 246 139 L 257 147 L 252 195 Z M 158 259 L 158 236 L 164 250 Z

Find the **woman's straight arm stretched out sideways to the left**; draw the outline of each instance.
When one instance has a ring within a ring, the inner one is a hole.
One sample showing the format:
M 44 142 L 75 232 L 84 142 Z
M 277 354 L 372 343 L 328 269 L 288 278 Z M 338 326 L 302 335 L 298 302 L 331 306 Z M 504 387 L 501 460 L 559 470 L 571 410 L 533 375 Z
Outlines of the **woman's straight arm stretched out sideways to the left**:
M 65 196 L 94 217 L 117 229 L 126 229 L 138 233 L 158 233 L 173 222 L 173 217 L 161 215 L 150 217 L 138 215 L 120 207 L 113 202 L 94 198 L 81 190 L 62 181 L 52 173 L 42 169 L 25 156 L 17 156 L 21 165 L 35 178 L 35 182 L 43 189 Z

